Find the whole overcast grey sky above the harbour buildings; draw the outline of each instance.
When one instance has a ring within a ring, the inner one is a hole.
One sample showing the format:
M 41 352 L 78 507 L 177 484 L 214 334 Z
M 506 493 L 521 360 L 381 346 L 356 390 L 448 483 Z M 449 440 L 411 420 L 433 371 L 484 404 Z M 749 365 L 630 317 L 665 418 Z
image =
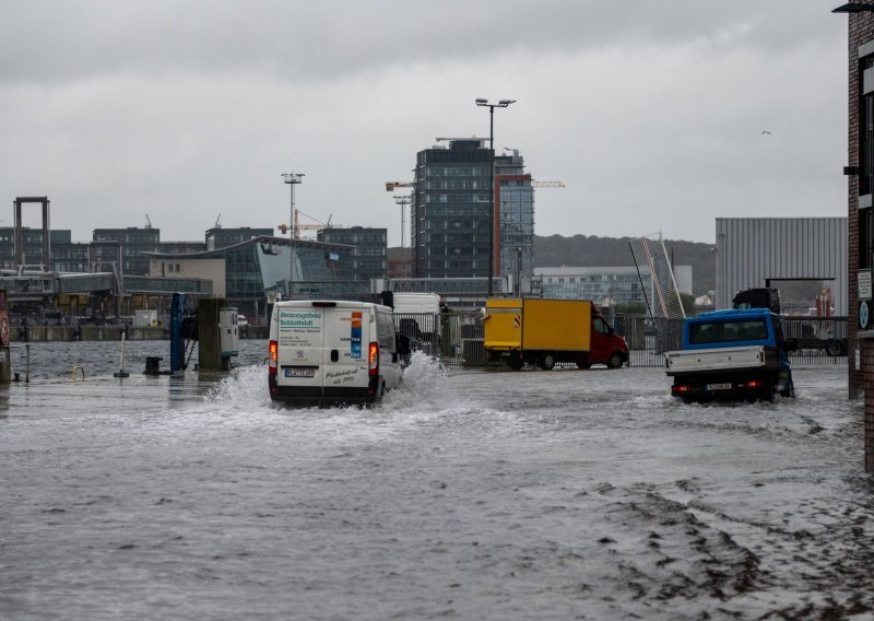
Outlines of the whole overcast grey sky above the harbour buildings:
M 536 191 L 539 235 L 712 242 L 720 216 L 846 215 L 840 3 L 4 2 L 0 226 L 47 195 L 74 241 L 146 213 L 163 241 L 220 213 L 275 227 L 298 172 L 303 212 L 399 245 L 385 183 L 435 137 L 487 138 L 476 97 L 518 99 L 496 149 L 567 186 Z

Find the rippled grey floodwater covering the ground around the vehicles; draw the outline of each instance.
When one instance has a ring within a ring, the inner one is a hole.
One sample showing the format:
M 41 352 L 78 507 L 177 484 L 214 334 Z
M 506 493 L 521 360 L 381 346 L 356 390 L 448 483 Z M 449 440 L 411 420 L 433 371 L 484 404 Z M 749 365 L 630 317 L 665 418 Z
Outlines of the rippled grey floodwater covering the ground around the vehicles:
M 123 380 L 118 343 L 34 345 L 0 390 L 0 618 L 874 616 L 842 367 L 683 406 L 660 368 L 421 356 L 377 409 L 291 410 L 244 345 L 184 379 L 143 376 L 168 345 L 142 345 Z

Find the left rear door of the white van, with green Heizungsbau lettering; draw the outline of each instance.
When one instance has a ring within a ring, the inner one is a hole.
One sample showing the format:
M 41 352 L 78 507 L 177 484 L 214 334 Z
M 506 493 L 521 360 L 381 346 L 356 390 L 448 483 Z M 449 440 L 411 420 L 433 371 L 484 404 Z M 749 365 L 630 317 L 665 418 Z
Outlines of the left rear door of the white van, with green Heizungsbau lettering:
M 296 396 L 321 398 L 324 308 L 279 308 L 276 385 Z

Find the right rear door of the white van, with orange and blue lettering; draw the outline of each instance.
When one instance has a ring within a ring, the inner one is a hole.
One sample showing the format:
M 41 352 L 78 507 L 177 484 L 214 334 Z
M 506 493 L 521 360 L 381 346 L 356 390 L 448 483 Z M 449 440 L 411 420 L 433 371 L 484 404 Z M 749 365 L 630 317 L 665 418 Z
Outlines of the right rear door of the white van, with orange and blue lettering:
M 361 389 L 366 394 L 370 335 L 375 333 L 374 309 L 338 304 L 327 310 L 322 351 L 324 395 L 342 395 L 346 389 Z

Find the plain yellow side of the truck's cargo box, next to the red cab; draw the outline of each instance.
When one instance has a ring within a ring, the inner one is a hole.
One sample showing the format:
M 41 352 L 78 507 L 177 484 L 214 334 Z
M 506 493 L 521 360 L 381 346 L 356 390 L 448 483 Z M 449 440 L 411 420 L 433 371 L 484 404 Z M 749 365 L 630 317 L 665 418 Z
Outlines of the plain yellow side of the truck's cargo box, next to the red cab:
M 589 351 L 592 303 L 580 300 L 524 300 L 522 349 Z

